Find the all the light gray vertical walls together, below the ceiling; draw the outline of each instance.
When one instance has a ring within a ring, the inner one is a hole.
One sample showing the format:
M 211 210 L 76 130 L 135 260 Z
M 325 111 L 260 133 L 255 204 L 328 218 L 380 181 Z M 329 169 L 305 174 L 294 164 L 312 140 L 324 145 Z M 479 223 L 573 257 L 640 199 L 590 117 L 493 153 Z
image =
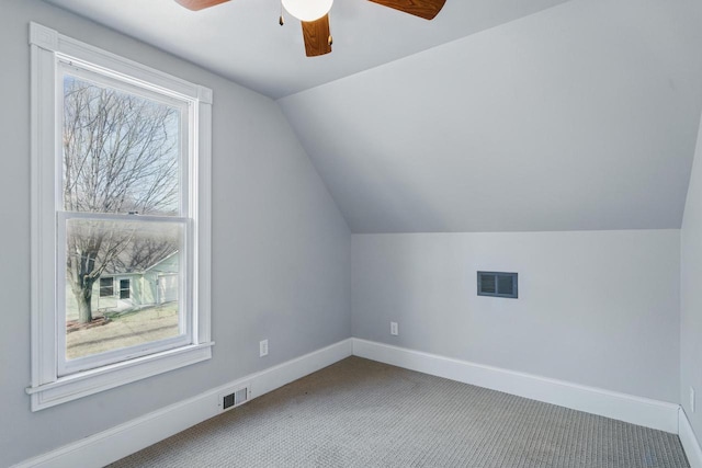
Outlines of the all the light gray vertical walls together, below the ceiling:
M 0 214 L 8 226 L 0 231 L 0 466 L 352 332 L 686 406 L 690 385 L 702 391 L 702 301 L 694 295 L 702 281 L 700 150 L 682 240 L 677 230 L 351 238 L 275 102 L 38 0 L 0 1 Z M 24 392 L 30 21 L 210 87 L 215 95 L 213 359 L 36 413 Z M 520 298 L 477 297 L 476 270 L 519 272 Z M 399 322 L 399 336 L 389 335 L 390 320 Z M 270 355 L 259 358 L 264 338 Z M 700 412 L 686 410 L 702 433 Z

